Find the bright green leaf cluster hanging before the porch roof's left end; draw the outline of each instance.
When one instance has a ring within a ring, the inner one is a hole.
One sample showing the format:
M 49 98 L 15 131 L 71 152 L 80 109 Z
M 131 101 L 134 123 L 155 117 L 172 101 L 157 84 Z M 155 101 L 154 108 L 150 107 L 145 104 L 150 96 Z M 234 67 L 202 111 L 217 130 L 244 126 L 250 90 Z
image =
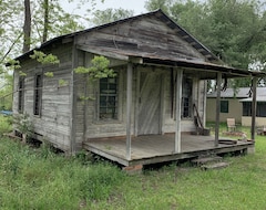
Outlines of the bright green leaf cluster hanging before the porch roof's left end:
M 90 80 L 114 77 L 116 74 L 109 69 L 110 61 L 104 56 L 94 56 L 90 67 L 79 66 L 74 70 L 76 74 L 88 74 Z

